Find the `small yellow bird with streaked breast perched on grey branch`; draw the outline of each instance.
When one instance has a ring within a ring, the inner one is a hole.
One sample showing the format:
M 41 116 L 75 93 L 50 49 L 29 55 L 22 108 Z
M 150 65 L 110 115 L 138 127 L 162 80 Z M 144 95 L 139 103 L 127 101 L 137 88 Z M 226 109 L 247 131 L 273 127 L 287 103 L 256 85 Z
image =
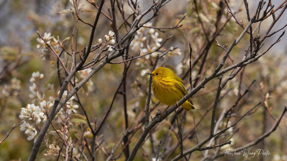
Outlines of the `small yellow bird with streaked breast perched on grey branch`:
M 169 68 L 159 67 L 146 74 L 152 76 L 152 91 L 159 102 L 170 106 L 187 95 L 182 79 L 177 77 Z M 185 101 L 182 107 L 187 111 L 194 109 L 191 98 Z

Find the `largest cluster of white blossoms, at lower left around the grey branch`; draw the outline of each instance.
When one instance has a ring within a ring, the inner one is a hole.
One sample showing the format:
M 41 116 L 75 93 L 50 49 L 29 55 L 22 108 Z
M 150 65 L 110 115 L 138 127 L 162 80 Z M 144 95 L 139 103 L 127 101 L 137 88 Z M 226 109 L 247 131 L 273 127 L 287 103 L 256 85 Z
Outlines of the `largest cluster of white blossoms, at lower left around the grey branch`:
M 44 74 L 40 72 L 33 72 L 30 82 L 32 85 L 29 87 L 30 94 L 28 95 L 32 99 L 32 104 L 28 104 L 26 107 L 21 108 L 19 115 L 20 119 L 26 119 L 26 121 L 20 125 L 20 130 L 25 131 L 29 134 L 27 140 L 32 140 L 37 137 L 37 133 L 40 131 L 42 123 L 47 119 L 46 111 L 49 112 L 51 107 L 54 105 L 54 97 L 50 96 L 47 100 L 45 99 L 45 94 L 40 88 L 40 80 L 44 77 Z M 53 89 L 53 85 L 48 84 L 46 90 Z M 59 93 L 59 92 L 58 92 Z M 64 91 L 63 98 L 68 95 L 67 91 Z M 77 113 L 76 109 L 79 108 L 78 105 L 73 103 L 75 96 L 72 96 L 66 103 L 65 107 L 68 109 L 68 114 Z M 38 105 L 35 105 L 37 103 Z M 61 123 L 61 118 L 65 118 L 65 112 L 63 113 L 63 108 L 56 115 L 57 123 Z M 29 121 L 28 121 L 29 120 Z

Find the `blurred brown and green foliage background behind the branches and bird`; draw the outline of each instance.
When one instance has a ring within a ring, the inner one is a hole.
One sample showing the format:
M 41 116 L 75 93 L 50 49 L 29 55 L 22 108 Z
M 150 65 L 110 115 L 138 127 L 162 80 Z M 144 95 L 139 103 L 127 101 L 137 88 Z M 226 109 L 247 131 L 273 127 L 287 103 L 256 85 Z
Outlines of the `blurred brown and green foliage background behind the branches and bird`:
M 256 7 L 253 6 L 254 4 L 257 5 L 256 2 L 250 2 L 250 8 Z M 87 1 L 81 0 L 80 3 L 86 4 L 85 9 L 96 10 Z M 124 3 L 127 4 L 127 1 L 124 1 Z M 247 24 L 248 20 L 246 18 L 245 8 L 244 5 L 242 5 L 242 2 L 230 1 L 229 3 L 234 10 L 237 10 L 238 7 L 243 9 L 243 11 L 236 14 L 236 17 L 238 17 L 238 19 L 243 19 L 244 24 Z M 276 1 L 274 1 L 274 3 L 274 5 L 278 5 Z M 213 24 L 216 21 L 216 13 L 219 9 L 218 4 L 219 0 L 197 1 L 199 16 L 201 17 L 204 28 L 208 33 L 215 31 L 216 26 Z M 142 0 L 139 1 L 139 5 L 141 6 L 142 10 L 145 10 L 147 7 L 152 5 L 152 1 Z M 71 4 L 69 3 L 69 0 L 0 1 L 0 70 L 4 71 L 0 74 L 0 140 L 5 137 L 6 133 L 10 130 L 13 124 L 17 125 L 21 121 L 21 119 L 19 119 L 21 108 L 26 107 L 26 105 L 32 101 L 28 97 L 28 94 L 30 93 L 29 86 L 32 85 L 29 82 L 32 72 L 40 71 L 40 73 L 44 74 L 44 79 L 41 80 L 41 87 L 46 87 L 48 83 L 54 85 L 54 90 L 49 90 L 45 93 L 46 99 L 49 96 L 55 97 L 57 95 L 57 91 L 59 91 L 60 87 L 57 77 L 57 65 L 55 64 L 56 60 L 49 54 L 45 56 L 45 61 L 41 60 L 40 53 L 36 48 L 36 45 L 38 44 L 36 41 L 36 38 L 38 38 L 36 31 L 39 31 L 39 33 L 42 35 L 44 32 L 51 32 L 52 36 L 55 38 L 59 36 L 61 40 L 71 36 L 75 19 L 71 14 L 57 13 L 63 9 L 69 9 L 70 6 Z M 103 11 L 105 13 L 108 13 L 109 6 L 110 4 L 106 2 L 103 7 Z M 129 7 L 124 9 L 126 11 L 126 15 L 129 15 L 132 12 Z M 153 26 L 174 26 L 179 22 L 185 13 L 187 13 L 187 16 L 181 22 L 181 24 L 183 24 L 181 28 L 176 30 L 165 29 L 165 33 L 156 30 L 156 32 L 159 33 L 158 37 L 162 38 L 163 41 L 168 35 L 173 35 L 173 37 L 168 40 L 166 44 L 164 44 L 164 48 L 160 52 L 164 52 L 165 49 L 170 48 L 170 46 L 179 46 L 181 52 L 181 54 L 166 56 L 160 60 L 158 66 L 171 68 L 181 78 L 183 78 L 185 73 L 187 73 L 189 70 L 189 40 L 191 41 L 191 46 L 193 47 L 193 60 L 197 58 L 199 50 L 203 45 L 205 45 L 204 42 L 206 41 L 206 37 L 195 12 L 195 3 L 193 0 L 171 1 L 159 11 L 159 16 L 152 20 Z M 254 13 L 255 11 L 252 11 L 250 14 L 253 15 Z M 223 14 L 225 14 L 224 17 L 226 17 L 226 15 L 229 13 L 225 9 Z M 286 13 L 284 14 L 286 15 Z M 81 18 L 86 22 L 93 23 L 95 15 L 96 12 L 81 13 Z M 118 24 L 121 24 L 122 19 L 120 14 L 117 16 L 119 21 Z M 268 24 L 272 22 L 272 17 L 269 17 L 268 19 L 268 21 L 264 21 L 266 24 L 261 24 L 260 33 L 264 33 L 269 26 Z M 284 16 L 282 16 L 282 19 L 284 19 Z M 286 21 L 284 22 L 282 19 L 280 19 L 280 22 L 277 24 L 278 27 L 276 26 L 274 31 L 282 28 L 285 25 Z M 222 25 L 224 21 L 225 20 L 222 19 L 219 25 Z M 98 23 L 96 28 L 93 45 L 98 43 L 96 40 L 99 38 L 103 39 L 104 35 L 108 34 L 109 30 L 112 30 L 110 27 L 110 21 L 106 17 L 101 15 L 99 22 L 100 23 Z M 255 28 L 256 25 L 257 24 L 254 24 L 253 28 Z M 77 35 L 77 51 L 82 50 L 84 46 L 88 46 L 90 30 L 90 26 L 80 21 L 78 22 L 75 31 L 75 34 Z M 242 30 L 243 29 L 234 22 L 234 19 L 231 18 L 216 40 L 218 40 L 222 46 L 224 44 L 230 45 L 233 39 L 237 38 Z M 271 31 L 271 33 L 274 31 Z M 125 28 L 121 28 L 119 34 L 124 35 Z M 268 40 L 265 42 L 266 45 L 263 46 L 261 51 L 265 51 L 280 34 L 281 33 L 275 34 L 274 38 L 268 38 Z M 245 89 L 250 85 L 253 79 L 256 79 L 255 84 L 250 88 L 250 92 L 247 94 L 247 96 L 239 101 L 235 113 L 237 115 L 242 115 L 259 101 L 264 104 L 264 97 L 268 93 L 270 98 L 268 99 L 267 104 L 270 107 L 272 114 L 275 117 L 280 115 L 287 102 L 286 36 L 283 37 L 283 39 L 285 41 L 281 41 L 280 43 L 276 44 L 257 62 L 249 64 L 245 68 L 241 89 L 238 89 L 239 75 L 228 83 L 228 85 L 222 91 L 222 94 L 229 89 L 231 89 L 231 92 L 220 100 L 218 117 L 223 109 L 227 109 L 234 104 L 237 98 L 238 90 L 241 90 L 241 93 L 244 93 Z M 65 48 L 69 52 L 71 51 L 70 43 L 71 40 L 64 44 Z M 241 43 L 235 46 L 231 53 L 234 62 L 238 62 L 243 58 L 243 55 L 245 54 L 244 50 L 247 48 L 248 44 L 249 36 L 245 35 Z M 134 50 L 130 50 L 129 54 L 137 56 L 138 53 L 139 47 L 136 47 Z M 206 75 L 211 74 L 211 72 L 221 61 L 221 59 L 218 58 L 221 58 L 224 53 L 225 51 L 216 46 L 215 42 L 212 43 L 206 62 L 204 63 L 203 72 L 198 75 L 200 65 L 195 65 L 193 67 L 193 80 L 198 79 L 200 82 Z M 98 54 L 98 51 L 92 52 L 90 58 L 88 58 L 88 61 L 92 60 L 96 54 Z M 69 62 L 71 61 L 71 58 L 68 58 L 67 55 L 64 54 L 62 60 Z M 121 58 L 113 60 L 113 62 L 117 61 L 121 61 Z M 152 56 L 148 59 L 142 57 L 138 60 L 133 60 L 130 70 L 127 73 L 126 91 L 130 127 L 133 127 L 135 122 L 144 116 L 143 111 L 145 110 L 146 105 L 149 76 L 141 73 L 149 72 L 153 61 L 154 57 Z M 201 64 L 201 61 L 202 60 L 199 59 L 198 64 Z M 232 62 L 228 59 L 224 67 L 230 66 L 231 64 Z M 61 72 L 63 73 L 63 71 Z M 97 118 L 98 123 L 102 120 L 103 115 L 106 113 L 110 102 L 113 99 L 113 95 L 121 82 L 122 74 L 123 64 L 107 64 L 102 68 L 102 70 L 92 77 L 93 85 L 85 85 L 84 88 L 79 90 L 80 98 L 82 99 L 84 107 L 86 107 L 86 111 L 88 112 L 90 119 L 94 120 L 94 118 Z M 223 77 L 226 76 L 227 75 L 224 75 Z M 190 87 L 189 76 L 185 77 L 183 81 L 187 89 L 190 90 L 190 88 L 188 88 Z M 260 86 L 261 82 L 264 87 Z M 204 89 L 201 89 L 192 97 L 196 109 L 189 112 L 182 111 L 182 113 L 178 114 L 178 117 L 181 120 L 181 126 L 183 126 L 184 136 L 194 127 L 193 116 L 195 117 L 195 122 L 197 123 L 206 109 L 214 102 L 216 95 L 215 87 L 217 87 L 217 85 L 218 80 L 211 80 L 207 85 L 205 85 Z M 260 90 L 260 87 L 263 88 L 265 93 Z M 156 104 L 157 100 L 152 97 L 151 107 L 154 107 Z M 151 115 L 155 116 L 157 109 L 164 108 L 165 105 L 157 105 L 156 108 L 151 112 Z M 80 108 L 78 108 L 77 111 L 78 114 L 83 115 Z M 238 123 L 236 127 L 241 128 L 239 132 L 234 135 L 232 144 L 229 145 L 229 147 L 225 147 L 225 149 L 245 145 L 253 141 L 262 133 L 268 131 L 274 120 L 269 115 L 265 115 L 264 113 L 265 108 L 263 105 L 261 105 L 257 112 L 251 116 L 245 117 L 245 119 Z M 210 130 L 211 112 L 209 112 L 207 115 L 208 116 L 205 117 L 202 123 L 197 127 L 199 140 L 204 139 Z M 72 118 L 73 116 L 71 119 Z M 169 121 L 170 119 L 172 119 L 172 115 L 170 115 L 167 120 L 155 127 L 153 130 L 154 132 L 151 132 L 151 138 L 147 138 L 152 140 L 152 142 L 145 142 L 145 144 L 139 150 L 136 160 L 149 160 L 151 157 L 155 157 L 154 155 L 156 155 L 159 141 L 162 138 L 166 138 L 170 131 L 170 127 L 172 126 Z M 230 119 L 231 122 L 235 120 L 236 118 Z M 125 131 L 122 95 L 117 95 L 110 116 L 108 117 L 104 126 L 105 127 L 100 131 L 101 135 L 99 135 L 97 139 L 98 142 L 104 140 L 100 149 L 96 152 L 98 160 L 104 160 L 106 158 L 105 154 L 111 151 L 112 147 L 115 146 L 118 140 L 121 138 L 121 134 Z M 221 126 L 225 126 L 224 122 Z M 69 131 L 70 136 L 73 139 L 81 136 L 83 132 L 81 130 L 82 127 L 85 127 L 84 129 L 88 130 L 87 125 L 78 123 L 77 121 L 73 123 L 73 127 L 74 128 L 71 128 L 71 131 Z M 264 142 L 249 148 L 250 151 L 254 152 L 259 148 L 264 147 L 264 149 L 269 150 L 271 154 L 269 156 L 261 156 L 263 160 L 287 160 L 287 141 L 284 139 L 287 133 L 286 127 L 287 118 L 285 116 L 283 117 L 278 130 L 272 133 L 267 139 L 264 140 Z M 174 128 L 174 131 L 170 133 L 170 138 L 168 138 L 167 149 L 178 142 L 177 125 L 174 125 Z M 142 131 L 142 129 L 139 129 L 139 131 L 134 134 L 134 137 L 131 140 L 130 148 L 133 148 L 133 145 L 136 143 Z M 55 140 L 58 140 L 57 136 L 53 134 L 50 135 L 50 139 L 53 137 L 54 138 L 49 140 L 49 144 L 53 143 Z M 89 139 L 88 136 L 87 139 Z M 49 150 L 49 144 L 42 144 L 42 151 L 39 152 L 37 160 L 55 160 L 55 157 L 53 158 L 52 156 L 42 155 Z M 188 138 L 184 141 L 185 150 L 195 145 L 195 138 Z M 16 128 L 0 145 L 0 160 L 27 160 L 32 146 L 33 141 L 28 141 L 27 135 L 24 133 L 24 131 L 20 131 L 20 128 Z M 115 156 L 120 152 L 121 148 L 116 151 Z M 76 154 L 77 152 L 74 153 Z M 170 155 L 170 158 L 173 158 L 179 153 L 180 148 L 177 148 L 175 152 L 170 154 L 168 154 L 167 150 L 165 155 Z M 200 158 L 200 152 L 195 152 L 191 156 L 192 160 L 199 160 Z M 244 159 L 243 156 L 236 156 L 235 158 L 236 160 Z M 258 156 L 256 160 L 259 158 L 260 156 Z M 225 156 L 220 160 L 231 159 L 234 159 L 234 156 Z M 122 155 L 118 160 L 124 160 L 124 155 Z

